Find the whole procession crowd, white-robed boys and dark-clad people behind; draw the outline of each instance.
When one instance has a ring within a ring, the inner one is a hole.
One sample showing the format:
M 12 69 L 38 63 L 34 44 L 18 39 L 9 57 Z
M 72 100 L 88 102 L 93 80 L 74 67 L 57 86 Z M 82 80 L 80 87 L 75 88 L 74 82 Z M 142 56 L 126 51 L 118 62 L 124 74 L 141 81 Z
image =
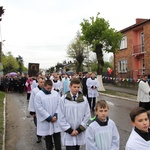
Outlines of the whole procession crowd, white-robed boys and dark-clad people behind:
M 141 81 L 143 87 L 146 81 Z M 37 143 L 44 137 L 47 150 L 61 150 L 62 145 L 66 150 L 79 150 L 81 145 L 86 145 L 86 150 L 120 149 L 117 126 L 108 117 L 109 106 L 105 100 L 97 99 L 96 73 L 5 76 L 0 83 L 5 92 L 26 91 Z M 133 128 L 126 150 L 150 149 L 149 115 L 143 106 L 140 102 L 130 112 Z M 95 113 L 93 118 L 91 111 Z

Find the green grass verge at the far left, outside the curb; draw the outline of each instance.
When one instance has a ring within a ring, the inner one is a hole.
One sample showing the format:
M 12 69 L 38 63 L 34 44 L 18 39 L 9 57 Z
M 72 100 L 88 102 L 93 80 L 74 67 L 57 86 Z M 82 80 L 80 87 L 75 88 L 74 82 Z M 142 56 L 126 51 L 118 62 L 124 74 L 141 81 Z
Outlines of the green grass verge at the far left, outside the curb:
M 2 149 L 2 145 L 3 145 L 3 132 L 4 132 L 4 126 L 3 126 L 3 122 L 4 122 L 4 118 L 3 118 L 3 109 L 4 109 L 4 104 L 3 104 L 3 100 L 5 97 L 5 93 L 4 92 L 0 92 L 0 150 Z

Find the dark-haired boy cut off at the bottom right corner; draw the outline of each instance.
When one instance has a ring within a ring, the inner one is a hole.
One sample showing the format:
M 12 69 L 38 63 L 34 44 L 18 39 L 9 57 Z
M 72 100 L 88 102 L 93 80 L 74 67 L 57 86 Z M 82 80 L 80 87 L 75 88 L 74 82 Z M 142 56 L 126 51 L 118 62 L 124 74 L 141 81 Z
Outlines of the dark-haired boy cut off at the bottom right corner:
M 149 118 L 146 109 L 137 107 L 131 110 L 130 118 L 132 132 L 126 143 L 126 150 L 149 150 L 150 129 Z

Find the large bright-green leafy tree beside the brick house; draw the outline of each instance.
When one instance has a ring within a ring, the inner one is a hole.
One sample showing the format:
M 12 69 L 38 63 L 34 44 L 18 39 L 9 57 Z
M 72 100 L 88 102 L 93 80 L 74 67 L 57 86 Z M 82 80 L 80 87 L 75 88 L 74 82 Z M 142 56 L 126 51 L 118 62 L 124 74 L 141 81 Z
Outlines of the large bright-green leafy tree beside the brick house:
M 96 53 L 98 61 L 97 74 L 101 75 L 104 66 L 103 52 L 116 52 L 120 47 L 122 34 L 110 28 L 108 21 L 99 18 L 99 14 L 97 14 L 96 19 L 90 17 L 91 22 L 83 19 L 80 25 L 81 39 L 91 46 L 93 52 Z

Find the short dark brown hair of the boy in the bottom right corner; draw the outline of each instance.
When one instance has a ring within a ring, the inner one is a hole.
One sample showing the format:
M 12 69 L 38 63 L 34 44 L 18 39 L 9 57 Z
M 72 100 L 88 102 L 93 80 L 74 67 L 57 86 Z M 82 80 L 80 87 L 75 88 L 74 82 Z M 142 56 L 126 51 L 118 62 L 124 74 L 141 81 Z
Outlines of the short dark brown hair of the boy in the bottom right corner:
M 130 112 L 130 118 L 131 118 L 131 121 L 134 122 L 135 121 L 135 117 L 142 114 L 142 113 L 147 113 L 147 110 L 143 107 L 136 107 L 136 108 L 133 108 Z

